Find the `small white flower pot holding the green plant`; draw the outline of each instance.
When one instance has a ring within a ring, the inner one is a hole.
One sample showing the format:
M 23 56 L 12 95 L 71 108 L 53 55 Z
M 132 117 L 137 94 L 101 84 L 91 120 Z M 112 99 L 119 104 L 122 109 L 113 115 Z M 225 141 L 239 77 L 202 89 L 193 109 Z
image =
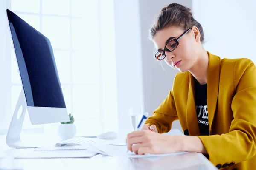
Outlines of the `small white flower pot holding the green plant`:
M 76 135 L 76 125 L 70 124 L 60 124 L 58 125 L 58 136 L 62 140 L 73 138 Z

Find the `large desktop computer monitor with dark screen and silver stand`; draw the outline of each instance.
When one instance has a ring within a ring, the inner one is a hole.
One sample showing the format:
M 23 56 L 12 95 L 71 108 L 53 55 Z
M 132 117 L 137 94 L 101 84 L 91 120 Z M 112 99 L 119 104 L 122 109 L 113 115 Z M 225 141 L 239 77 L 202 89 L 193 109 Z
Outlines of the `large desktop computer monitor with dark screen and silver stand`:
M 9 9 L 6 13 L 22 82 L 6 143 L 10 147 L 31 147 L 20 141 L 26 109 L 32 125 L 68 122 L 70 119 L 50 40 Z M 23 111 L 17 118 L 20 107 Z

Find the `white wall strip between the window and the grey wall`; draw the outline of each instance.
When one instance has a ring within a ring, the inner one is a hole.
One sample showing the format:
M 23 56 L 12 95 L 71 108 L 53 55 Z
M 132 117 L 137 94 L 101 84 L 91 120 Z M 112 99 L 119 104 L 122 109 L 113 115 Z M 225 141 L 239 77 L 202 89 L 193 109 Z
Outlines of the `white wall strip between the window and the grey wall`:
M 118 123 L 121 134 L 131 129 L 129 107 L 143 106 L 143 75 L 138 0 L 114 0 Z

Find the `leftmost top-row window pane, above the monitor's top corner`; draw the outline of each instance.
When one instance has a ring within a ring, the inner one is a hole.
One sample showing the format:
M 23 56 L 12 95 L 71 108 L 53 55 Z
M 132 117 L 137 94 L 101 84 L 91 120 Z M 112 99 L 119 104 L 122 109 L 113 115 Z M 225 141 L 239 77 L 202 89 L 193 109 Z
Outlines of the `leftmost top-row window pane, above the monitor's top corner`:
M 11 0 L 12 11 L 35 12 L 40 11 L 40 0 Z

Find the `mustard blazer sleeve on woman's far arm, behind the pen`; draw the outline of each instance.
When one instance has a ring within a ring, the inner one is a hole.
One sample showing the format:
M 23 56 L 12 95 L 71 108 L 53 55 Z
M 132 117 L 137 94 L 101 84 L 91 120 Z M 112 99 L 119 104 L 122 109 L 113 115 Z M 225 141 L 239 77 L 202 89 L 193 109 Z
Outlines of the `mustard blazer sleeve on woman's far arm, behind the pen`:
M 175 78 L 173 84 L 175 83 Z M 172 89 L 166 99 L 153 111 L 153 115 L 148 117 L 145 124 L 155 125 L 158 133 L 167 133 L 171 130 L 172 122 L 175 120 L 178 120 L 178 116 Z

